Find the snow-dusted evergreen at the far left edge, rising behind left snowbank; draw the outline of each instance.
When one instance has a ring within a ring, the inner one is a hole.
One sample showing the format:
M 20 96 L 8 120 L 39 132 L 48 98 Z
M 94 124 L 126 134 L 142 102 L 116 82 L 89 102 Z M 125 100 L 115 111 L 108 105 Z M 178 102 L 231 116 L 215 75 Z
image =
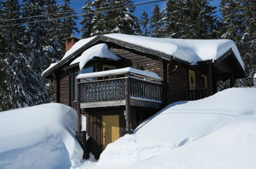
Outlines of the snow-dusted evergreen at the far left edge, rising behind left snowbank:
M 34 70 L 30 67 L 27 60 L 24 40 L 24 26 L 15 25 L 21 16 L 21 10 L 17 0 L 7 0 L 4 2 L 4 42 L 6 48 L 4 51 L 5 67 L 3 68 L 6 74 L 4 75 L 4 86 L 7 93 L 4 94 L 5 100 L 2 100 L 2 110 L 9 110 L 33 105 L 36 102 L 34 93 L 37 90 L 32 85 L 33 79 L 31 75 Z M 15 20 L 14 20 L 15 19 Z M 11 26 L 9 26 L 11 25 Z

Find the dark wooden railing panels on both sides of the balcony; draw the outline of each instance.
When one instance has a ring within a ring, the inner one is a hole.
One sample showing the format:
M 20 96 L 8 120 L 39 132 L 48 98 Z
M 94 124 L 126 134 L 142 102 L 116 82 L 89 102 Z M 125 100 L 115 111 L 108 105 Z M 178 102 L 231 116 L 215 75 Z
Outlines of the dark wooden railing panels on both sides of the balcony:
M 129 80 L 130 98 L 162 102 L 162 84 L 135 77 L 121 77 L 80 82 L 80 102 L 125 99 L 125 78 Z

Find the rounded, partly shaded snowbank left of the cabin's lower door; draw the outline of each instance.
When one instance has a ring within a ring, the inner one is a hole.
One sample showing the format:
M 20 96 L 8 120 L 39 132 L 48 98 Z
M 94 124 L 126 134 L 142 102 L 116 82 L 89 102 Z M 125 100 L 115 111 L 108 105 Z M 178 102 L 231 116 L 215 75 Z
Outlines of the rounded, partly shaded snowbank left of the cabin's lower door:
M 58 103 L 0 112 L 0 168 L 80 165 L 75 121 L 76 111 Z

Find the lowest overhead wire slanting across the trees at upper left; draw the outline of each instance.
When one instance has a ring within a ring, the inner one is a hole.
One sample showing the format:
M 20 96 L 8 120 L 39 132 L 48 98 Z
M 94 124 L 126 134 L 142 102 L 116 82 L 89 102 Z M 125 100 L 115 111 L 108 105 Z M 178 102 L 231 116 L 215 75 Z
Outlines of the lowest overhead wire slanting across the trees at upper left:
M 43 20 L 34 20 L 34 21 L 31 21 L 31 22 L 11 24 L 11 25 L 4 25 L 4 26 L 0 26 L 0 27 L 16 26 L 16 25 L 23 25 L 23 24 L 32 24 L 32 23 L 37 23 L 37 22 L 44 22 L 44 21 L 47 21 L 47 20 L 56 20 L 56 19 L 61 19 L 61 18 L 74 17 L 74 16 L 84 16 L 84 15 L 96 14 L 96 13 L 101 13 L 101 12 L 115 11 L 115 10 L 120 10 L 120 9 L 125 9 L 125 8 L 133 8 L 133 7 L 137 7 L 137 6 L 149 5 L 149 4 L 154 4 L 154 3 L 164 2 L 164 1 L 167 1 L 167 0 L 159 0 L 159 1 L 155 1 L 155 2 L 148 2 L 148 3 L 144 3 L 144 4 L 137 4 L 137 5 L 131 5 L 131 6 L 128 6 L 128 7 L 108 9 L 108 10 L 102 10 L 102 11 L 95 11 L 95 12 L 84 13 L 84 14 L 76 14 L 76 15 L 56 17 L 56 18 L 49 18 L 49 19 L 43 19 Z M 125 4 L 122 4 L 122 5 L 125 5 Z

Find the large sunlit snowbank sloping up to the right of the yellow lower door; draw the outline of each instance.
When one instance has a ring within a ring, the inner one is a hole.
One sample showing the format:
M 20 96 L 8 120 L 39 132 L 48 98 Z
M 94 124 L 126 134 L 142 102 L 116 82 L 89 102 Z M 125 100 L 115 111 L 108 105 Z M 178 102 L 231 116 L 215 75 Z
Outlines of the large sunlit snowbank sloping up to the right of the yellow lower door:
M 108 144 L 97 168 L 253 168 L 256 90 L 232 88 L 168 105 Z

